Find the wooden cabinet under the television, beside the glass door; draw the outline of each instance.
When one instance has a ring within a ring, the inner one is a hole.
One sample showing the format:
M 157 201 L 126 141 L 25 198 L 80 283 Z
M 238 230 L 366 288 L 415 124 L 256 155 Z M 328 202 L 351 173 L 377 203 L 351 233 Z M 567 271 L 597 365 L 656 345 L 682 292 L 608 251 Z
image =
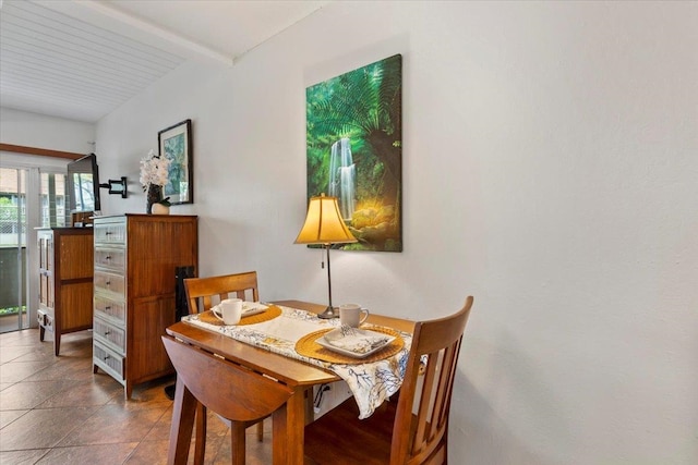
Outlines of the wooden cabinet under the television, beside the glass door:
M 39 339 L 53 333 L 53 352 L 61 335 L 92 328 L 92 228 L 39 228 Z

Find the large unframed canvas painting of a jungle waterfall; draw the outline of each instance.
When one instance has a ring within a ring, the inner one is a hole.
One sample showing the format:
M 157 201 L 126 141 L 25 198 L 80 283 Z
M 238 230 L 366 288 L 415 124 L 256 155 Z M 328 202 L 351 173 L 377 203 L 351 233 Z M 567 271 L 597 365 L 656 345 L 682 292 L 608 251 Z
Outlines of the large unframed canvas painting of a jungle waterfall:
M 308 198 L 337 197 L 359 240 L 345 250 L 402 252 L 402 56 L 305 89 Z

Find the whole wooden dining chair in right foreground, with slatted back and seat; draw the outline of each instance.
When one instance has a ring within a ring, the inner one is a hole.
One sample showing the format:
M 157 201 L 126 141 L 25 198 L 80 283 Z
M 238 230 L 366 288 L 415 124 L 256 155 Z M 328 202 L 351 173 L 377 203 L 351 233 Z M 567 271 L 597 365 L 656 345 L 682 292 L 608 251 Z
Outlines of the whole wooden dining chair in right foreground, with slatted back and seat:
M 416 325 L 397 401 L 384 402 L 361 420 L 349 397 L 308 425 L 305 463 L 447 463 L 450 397 L 471 307 L 472 296 L 458 313 Z

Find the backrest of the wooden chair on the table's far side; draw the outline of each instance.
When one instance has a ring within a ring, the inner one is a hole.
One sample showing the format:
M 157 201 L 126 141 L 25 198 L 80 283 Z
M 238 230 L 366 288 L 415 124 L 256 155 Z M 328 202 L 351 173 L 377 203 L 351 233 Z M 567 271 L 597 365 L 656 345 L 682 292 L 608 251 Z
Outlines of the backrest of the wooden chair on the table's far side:
M 184 280 L 189 313 L 198 314 L 210 310 L 226 298 L 242 298 L 258 302 L 257 273 L 248 271 L 237 274 L 225 274 L 208 278 L 190 278 Z

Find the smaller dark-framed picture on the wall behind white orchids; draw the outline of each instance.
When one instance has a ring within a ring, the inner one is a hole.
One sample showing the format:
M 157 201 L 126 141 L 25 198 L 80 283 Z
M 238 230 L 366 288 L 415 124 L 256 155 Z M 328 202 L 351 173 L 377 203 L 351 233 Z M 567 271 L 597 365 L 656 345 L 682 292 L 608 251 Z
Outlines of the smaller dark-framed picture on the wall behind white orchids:
M 163 195 L 172 205 L 194 203 L 192 120 L 185 120 L 157 133 L 159 155 L 171 160 L 169 180 Z

